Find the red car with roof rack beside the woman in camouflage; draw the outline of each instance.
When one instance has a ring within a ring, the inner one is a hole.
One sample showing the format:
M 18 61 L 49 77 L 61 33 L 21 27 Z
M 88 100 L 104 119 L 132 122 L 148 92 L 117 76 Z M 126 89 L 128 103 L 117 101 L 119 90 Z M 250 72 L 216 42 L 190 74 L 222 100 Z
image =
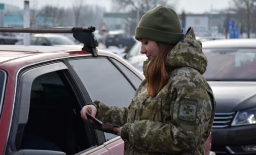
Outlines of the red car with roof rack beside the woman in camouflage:
M 91 36 L 83 50 L 0 46 L 0 154 L 123 154 L 121 137 L 80 110 L 96 99 L 128 106 L 144 76 Z

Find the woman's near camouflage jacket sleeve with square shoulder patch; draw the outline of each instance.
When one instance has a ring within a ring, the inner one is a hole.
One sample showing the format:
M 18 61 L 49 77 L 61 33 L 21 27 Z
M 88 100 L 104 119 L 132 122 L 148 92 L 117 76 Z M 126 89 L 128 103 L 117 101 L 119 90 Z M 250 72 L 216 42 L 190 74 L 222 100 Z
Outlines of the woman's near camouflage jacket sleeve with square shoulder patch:
M 186 81 L 187 82 L 187 81 Z M 139 120 L 123 126 L 121 137 L 137 149 L 178 153 L 194 150 L 211 128 L 211 99 L 205 87 L 182 81 L 172 85 L 170 122 Z M 173 93 L 172 93 L 173 94 Z

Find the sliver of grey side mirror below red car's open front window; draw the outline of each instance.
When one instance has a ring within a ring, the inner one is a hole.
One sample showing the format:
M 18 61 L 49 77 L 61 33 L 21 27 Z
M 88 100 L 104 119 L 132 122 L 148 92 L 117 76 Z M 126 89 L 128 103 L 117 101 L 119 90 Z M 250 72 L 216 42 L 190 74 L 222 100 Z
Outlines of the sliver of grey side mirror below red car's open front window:
M 66 155 L 66 153 L 52 150 L 21 149 L 8 155 Z

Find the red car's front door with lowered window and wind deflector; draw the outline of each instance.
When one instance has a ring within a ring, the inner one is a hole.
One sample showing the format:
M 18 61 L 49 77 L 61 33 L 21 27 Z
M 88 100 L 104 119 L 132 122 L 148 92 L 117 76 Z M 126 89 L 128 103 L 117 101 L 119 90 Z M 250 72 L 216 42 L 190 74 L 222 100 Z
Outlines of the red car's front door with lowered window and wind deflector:
M 63 62 L 24 68 L 17 86 L 5 154 L 109 154 L 81 119 L 85 101 Z

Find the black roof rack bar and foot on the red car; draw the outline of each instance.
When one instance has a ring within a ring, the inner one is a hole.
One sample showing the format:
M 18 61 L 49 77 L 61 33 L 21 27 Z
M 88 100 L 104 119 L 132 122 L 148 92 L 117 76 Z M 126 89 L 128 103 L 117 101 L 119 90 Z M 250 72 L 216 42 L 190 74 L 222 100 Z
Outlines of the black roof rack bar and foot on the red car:
M 0 32 L 20 32 L 20 33 L 73 33 L 74 38 L 84 44 L 82 50 L 91 52 L 97 56 L 98 42 L 92 32 L 95 27 L 55 27 L 55 28 L 11 28 L 0 27 Z

